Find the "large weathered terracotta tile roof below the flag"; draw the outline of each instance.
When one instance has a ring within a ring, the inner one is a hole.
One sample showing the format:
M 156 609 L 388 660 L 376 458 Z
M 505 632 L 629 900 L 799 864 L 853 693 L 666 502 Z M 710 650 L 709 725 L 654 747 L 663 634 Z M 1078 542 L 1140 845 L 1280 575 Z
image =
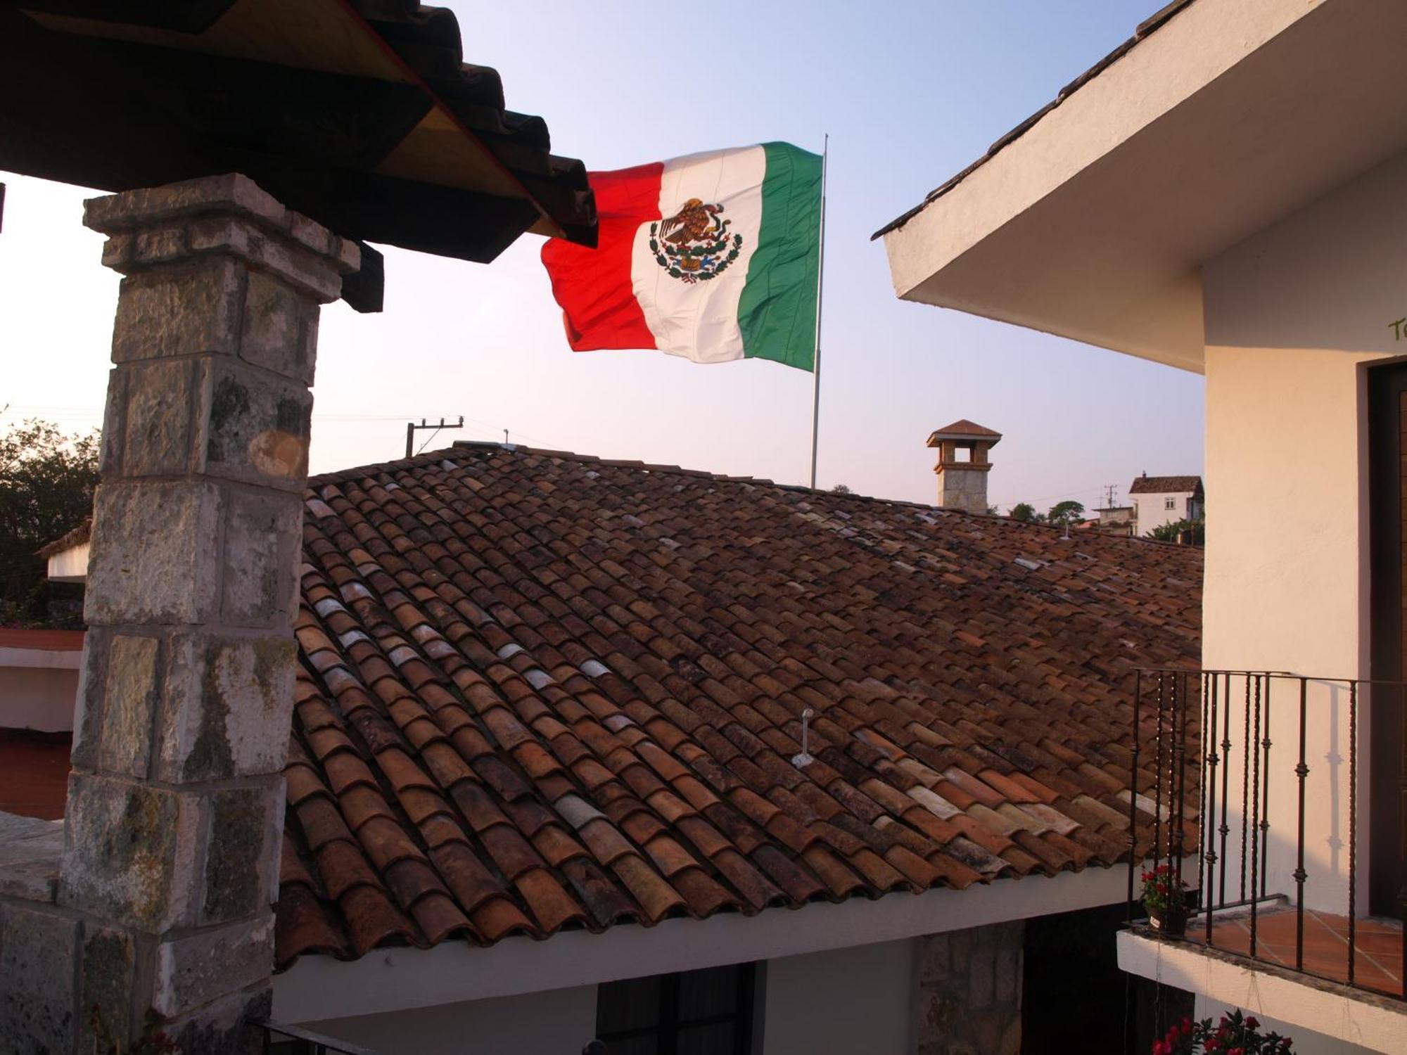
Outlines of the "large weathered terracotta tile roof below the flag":
M 280 968 L 1110 865 L 1199 650 L 1192 547 L 498 445 L 305 498 Z

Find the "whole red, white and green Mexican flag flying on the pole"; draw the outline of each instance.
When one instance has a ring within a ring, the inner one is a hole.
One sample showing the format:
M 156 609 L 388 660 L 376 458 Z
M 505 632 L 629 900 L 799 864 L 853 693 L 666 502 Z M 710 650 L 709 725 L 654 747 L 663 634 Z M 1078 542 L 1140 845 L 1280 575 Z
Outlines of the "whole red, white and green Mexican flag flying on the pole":
M 819 155 L 791 143 L 711 151 L 591 173 L 591 187 L 597 249 L 556 238 L 542 249 L 573 350 L 813 367 Z

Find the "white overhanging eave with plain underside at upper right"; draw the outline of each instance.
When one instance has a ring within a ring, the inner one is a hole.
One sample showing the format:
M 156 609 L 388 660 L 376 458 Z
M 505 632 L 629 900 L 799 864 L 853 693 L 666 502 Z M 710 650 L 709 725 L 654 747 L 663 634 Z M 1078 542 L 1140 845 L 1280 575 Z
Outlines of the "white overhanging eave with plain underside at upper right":
M 1407 0 L 1179 0 L 884 235 L 903 300 L 1202 370 L 1200 266 L 1407 148 Z

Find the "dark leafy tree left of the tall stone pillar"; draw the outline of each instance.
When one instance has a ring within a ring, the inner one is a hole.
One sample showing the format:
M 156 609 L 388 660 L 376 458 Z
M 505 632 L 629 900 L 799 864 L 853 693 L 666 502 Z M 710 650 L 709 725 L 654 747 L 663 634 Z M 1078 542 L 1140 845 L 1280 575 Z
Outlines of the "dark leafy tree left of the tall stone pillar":
M 56 587 L 34 553 L 91 515 L 97 452 L 96 429 L 68 436 L 45 421 L 13 425 L 0 436 L 0 625 L 55 622 Z

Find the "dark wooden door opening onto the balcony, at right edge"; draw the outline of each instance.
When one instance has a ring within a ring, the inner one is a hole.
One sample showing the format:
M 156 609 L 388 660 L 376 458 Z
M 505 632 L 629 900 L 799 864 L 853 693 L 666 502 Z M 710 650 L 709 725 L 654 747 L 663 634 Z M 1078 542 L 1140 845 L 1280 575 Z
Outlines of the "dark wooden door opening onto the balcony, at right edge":
M 1407 678 L 1407 363 L 1368 371 L 1372 670 Z M 1368 910 L 1399 917 L 1407 897 L 1407 758 L 1403 692 L 1377 688 L 1369 705 Z

